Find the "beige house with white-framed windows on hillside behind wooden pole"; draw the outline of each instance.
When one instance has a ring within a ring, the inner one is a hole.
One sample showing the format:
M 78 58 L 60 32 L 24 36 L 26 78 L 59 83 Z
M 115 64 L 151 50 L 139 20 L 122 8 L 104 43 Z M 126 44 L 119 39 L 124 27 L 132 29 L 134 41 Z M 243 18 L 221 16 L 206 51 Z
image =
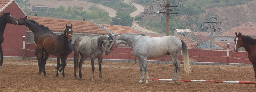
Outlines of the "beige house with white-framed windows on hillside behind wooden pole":
M 160 23 L 162 14 L 159 13 L 159 12 L 162 12 L 162 11 L 160 11 L 162 9 L 160 7 L 161 5 L 163 5 L 163 4 L 159 4 L 159 3 L 145 4 L 146 8 L 145 8 L 144 12 L 140 13 L 140 16 L 144 15 L 142 20 L 143 21 L 152 21 L 152 22 L 155 22 L 155 23 Z M 148 16 L 145 16 L 145 15 L 148 15 Z

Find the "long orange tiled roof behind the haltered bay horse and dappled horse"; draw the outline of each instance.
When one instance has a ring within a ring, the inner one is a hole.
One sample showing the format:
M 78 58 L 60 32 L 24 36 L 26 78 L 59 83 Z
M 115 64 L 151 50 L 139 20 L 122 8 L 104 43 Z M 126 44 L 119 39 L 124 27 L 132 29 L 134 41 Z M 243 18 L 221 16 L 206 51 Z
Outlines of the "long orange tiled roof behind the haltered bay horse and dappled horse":
M 80 20 L 68 20 L 52 17 L 38 17 L 29 16 L 29 19 L 37 21 L 40 25 L 44 25 L 50 28 L 53 32 L 63 32 L 65 30 L 65 24 L 71 25 L 73 23 L 74 33 L 87 33 L 87 34 L 109 34 L 108 31 L 98 27 L 96 24 L 88 21 Z

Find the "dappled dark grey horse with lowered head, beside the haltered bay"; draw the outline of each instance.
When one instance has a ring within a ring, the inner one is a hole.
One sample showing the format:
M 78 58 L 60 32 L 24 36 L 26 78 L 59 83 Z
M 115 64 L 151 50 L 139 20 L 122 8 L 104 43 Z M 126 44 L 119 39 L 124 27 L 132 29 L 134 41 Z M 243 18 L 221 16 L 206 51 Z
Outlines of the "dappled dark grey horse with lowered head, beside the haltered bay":
M 111 46 L 113 43 L 113 37 L 108 35 L 99 35 L 94 36 L 93 38 L 89 38 L 87 36 L 81 36 L 74 41 L 74 76 L 76 78 L 76 72 L 79 67 L 79 77 L 82 79 L 82 64 L 85 61 L 86 57 L 91 57 L 91 70 L 94 73 L 94 59 L 98 58 L 99 62 L 99 77 L 102 81 L 104 79 L 101 75 L 101 63 L 102 63 L 102 55 L 105 49 L 105 54 L 108 55 L 110 53 Z M 81 55 L 81 59 L 78 64 L 78 57 Z M 92 81 L 94 81 L 94 76 L 92 74 Z

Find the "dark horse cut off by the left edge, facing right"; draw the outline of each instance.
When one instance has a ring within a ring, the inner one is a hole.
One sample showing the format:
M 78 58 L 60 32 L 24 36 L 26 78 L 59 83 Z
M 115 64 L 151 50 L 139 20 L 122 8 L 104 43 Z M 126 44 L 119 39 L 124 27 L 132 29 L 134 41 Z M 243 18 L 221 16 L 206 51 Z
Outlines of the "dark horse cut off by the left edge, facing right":
M 0 68 L 3 68 L 4 53 L 2 49 L 2 43 L 4 42 L 4 29 L 7 23 L 14 24 L 14 25 L 18 24 L 18 22 L 12 17 L 10 12 L 3 13 L 3 15 L 0 16 L 0 53 L 1 53 Z

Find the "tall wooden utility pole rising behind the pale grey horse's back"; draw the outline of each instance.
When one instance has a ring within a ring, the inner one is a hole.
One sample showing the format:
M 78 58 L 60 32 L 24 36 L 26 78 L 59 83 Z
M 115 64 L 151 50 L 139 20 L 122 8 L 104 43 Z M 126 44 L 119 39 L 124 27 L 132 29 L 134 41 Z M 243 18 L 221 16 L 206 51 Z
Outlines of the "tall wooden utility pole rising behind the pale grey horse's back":
M 166 7 L 166 12 L 159 12 L 159 13 L 166 13 L 166 36 L 170 33 L 170 14 L 178 14 L 178 13 L 170 13 L 172 9 L 170 7 L 178 7 L 178 6 L 170 6 L 170 1 L 166 1 L 166 5 L 161 5 L 161 7 Z

